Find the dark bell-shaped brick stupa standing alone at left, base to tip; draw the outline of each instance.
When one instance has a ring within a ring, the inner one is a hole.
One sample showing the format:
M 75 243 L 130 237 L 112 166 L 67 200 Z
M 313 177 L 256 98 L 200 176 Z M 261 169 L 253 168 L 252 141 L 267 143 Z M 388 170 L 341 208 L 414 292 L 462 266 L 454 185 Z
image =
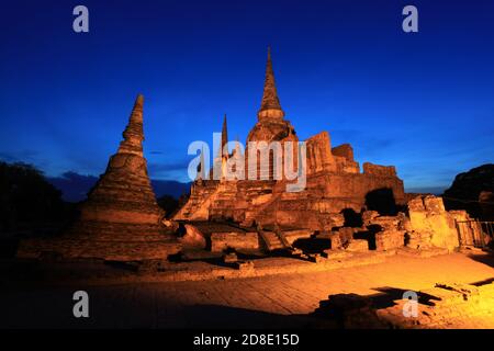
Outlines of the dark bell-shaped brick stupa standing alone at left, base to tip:
M 80 207 L 80 217 L 61 237 L 24 240 L 18 257 L 119 261 L 162 260 L 180 245 L 162 224 L 143 157 L 143 95 L 138 95 L 119 150 Z

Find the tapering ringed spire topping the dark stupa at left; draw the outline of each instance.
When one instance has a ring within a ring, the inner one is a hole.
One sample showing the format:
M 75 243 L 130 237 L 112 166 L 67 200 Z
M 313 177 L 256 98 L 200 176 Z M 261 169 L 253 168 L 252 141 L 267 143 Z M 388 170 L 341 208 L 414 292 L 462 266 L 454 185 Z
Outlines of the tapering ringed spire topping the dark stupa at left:
M 128 124 L 122 134 L 124 139 L 120 143 L 119 154 L 135 154 L 143 156 L 143 105 L 144 97 L 138 94 L 134 103 L 134 109 L 132 109 Z

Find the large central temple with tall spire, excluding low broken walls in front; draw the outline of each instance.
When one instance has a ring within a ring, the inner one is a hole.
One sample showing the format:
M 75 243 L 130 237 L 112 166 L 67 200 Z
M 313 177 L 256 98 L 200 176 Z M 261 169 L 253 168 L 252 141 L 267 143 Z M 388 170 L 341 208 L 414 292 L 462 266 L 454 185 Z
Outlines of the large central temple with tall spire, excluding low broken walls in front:
M 299 141 L 294 126 L 284 116 L 276 88 L 271 55 L 268 52 L 261 106 L 257 123 L 248 134 L 243 155 L 246 173 L 260 174 L 265 169 L 265 172 L 268 171 L 268 179 L 214 180 L 198 177 L 192 184 L 189 201 L 176 214 L 175 219 L 229 219 L 246 227 L 260 224 L 329 230 L 341 225 L 339 222 L 343 213 L 375 210 L 382 214 L 395 214 L 396 207 L 405 204 L 403 181 L 397 178 L 393 166 L 364 162 L 360 169 L 353 159 L 352 147 L 349 144 L 332 147 L 327 132 L 305 140 L 306 186 L 302 191 L 289 192 L 287 184 L 290 181 L 272 177 L 278 162 L 273 156 L 268 159 L 267 168 L 258 163 L 249 169 L 249 141 L 280 141 L 281 145 Z M 221 151 L 227 141 L 226 135 L 225 120 Z M 236 148 L 232 154 L 220 152 L 214 167 L 220 165 L 224 168 L 226 161 L 238 156 L 240 150 Z M 293 152 L 294 162 L 299 165 L 300 152 Z

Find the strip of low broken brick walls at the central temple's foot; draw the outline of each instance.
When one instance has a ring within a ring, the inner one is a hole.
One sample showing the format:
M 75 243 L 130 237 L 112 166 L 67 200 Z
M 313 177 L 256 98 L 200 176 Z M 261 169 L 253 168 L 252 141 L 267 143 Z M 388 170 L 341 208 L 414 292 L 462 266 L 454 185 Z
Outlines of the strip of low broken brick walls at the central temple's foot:
M 330 217 L 329 230 L 310 228 L 282 228 L 278 225 L 257 228 L 242 227 L 234 223 L 187 222 L 184 248 L 211 252 L 276 252 L 284 250 L 292 257 L 313 262 L 330 262 L 350 259 L 366 252 L 401 253 L 413 257 L 430 257 L 472 249 L 459 236 L 457 220 L 471 220 L 465 211 L 446 211 L 442 199 L 434 195 L 413 197 L 396 215 L 381 215 L 377 211 L 363 211 L 349 226 L 344 214 Z M 359 222 L 360 220 L 360 222 Z M 480 236 L 475 226 L 465 236 Z M 492 238 L 487 238 L 486 244 Z

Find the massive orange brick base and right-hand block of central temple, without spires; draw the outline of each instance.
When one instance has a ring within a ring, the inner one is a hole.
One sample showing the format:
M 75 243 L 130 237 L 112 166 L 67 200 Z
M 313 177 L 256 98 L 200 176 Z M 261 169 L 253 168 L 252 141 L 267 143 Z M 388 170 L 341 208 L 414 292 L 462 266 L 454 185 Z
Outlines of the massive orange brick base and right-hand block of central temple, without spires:
M 260 132 L 259 132 L 260 133 Z M 360 173 L 352 160 L 351 146 L 332 150 L 329 135 L 319 133 L 307 140 L 306 186 L 289 193 L 287 181 L 216 181 L 214 184 L 194 182 L 189 202 L 175 219 L 233 219 L 249 226 L 254 222 L 278 223 L 293 228 L 330 229 L 328 214 L 351 208 L 360 212 L 368 195 L 386 190 L 390 202 L 403 205 L 403 181 L 393 167 L 367 163 Z

